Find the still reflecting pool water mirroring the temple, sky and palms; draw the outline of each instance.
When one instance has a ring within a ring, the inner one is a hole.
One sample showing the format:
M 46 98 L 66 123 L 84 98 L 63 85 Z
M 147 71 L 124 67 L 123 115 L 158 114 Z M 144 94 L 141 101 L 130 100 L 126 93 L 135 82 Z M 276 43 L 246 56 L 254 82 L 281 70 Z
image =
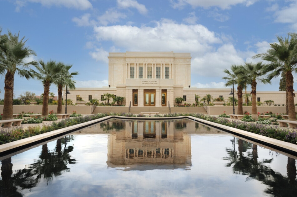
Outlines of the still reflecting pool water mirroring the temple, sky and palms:
M 0 155 L 0 196 L 295 196 L 295 159 L 189 119 L 109 119 Z

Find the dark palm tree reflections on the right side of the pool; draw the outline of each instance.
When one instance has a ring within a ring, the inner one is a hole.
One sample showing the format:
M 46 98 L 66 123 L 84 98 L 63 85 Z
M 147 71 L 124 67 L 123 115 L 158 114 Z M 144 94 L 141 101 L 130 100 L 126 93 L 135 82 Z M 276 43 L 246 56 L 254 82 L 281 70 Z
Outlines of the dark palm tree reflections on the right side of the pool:
M 231 140 L 232 141 L 232 140 Z M 249 149 L 252 149 L 250 152 Z M 288 176 L 275 172 L 265 163 L 271 163 L 272 159 L 258 161 L 257 145 L 252 145 L 243 140 L 238 140 L 238 151 L 235 148 L 226 149 L 229 157 L 224 158 L 229 163 L 227 167 L 233 167 L 235 174 L 248 175 L 247 180 L 255 179 L 267 185 L 265 193 L 273 196 L 295 196 L 297 191 L 296 184 L 296 165 L 295 159 L 288 158 Z M 247 154 L 243 154 L 247 152 Z

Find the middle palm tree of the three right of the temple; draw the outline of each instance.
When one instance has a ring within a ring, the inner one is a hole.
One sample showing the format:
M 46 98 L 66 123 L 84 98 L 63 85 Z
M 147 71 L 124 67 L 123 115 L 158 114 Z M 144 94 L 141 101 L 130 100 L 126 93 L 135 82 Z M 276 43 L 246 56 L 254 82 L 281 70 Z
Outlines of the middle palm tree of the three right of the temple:
M 265 76 L 263 67 L 264 67 L 264 64 L 262 62 L 258 62 L 256 64 L 245 63 L 244 73 L 241 73 L 241 74 L 244 74 L 246 80 L 249 81 L 249 83 L 252 86 L 252 91 L 251 91 L 251 94 L 252 94 L 252 119 L 255 119 L 255 120 L 258 119 L 257 98 L 256 98 L 257 81 L 260 81 L 261 83 L 264 83 L 264 84 L 270 83 L 269 79 L 267 79 Z

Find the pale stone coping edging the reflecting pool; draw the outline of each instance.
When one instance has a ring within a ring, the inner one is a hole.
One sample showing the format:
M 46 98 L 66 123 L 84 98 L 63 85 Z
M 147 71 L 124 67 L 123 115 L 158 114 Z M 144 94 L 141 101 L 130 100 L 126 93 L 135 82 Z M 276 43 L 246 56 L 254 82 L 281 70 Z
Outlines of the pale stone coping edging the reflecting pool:
M 5 152 L 8 152 L 8 151 L 13 150 L 13 149 L 18 149 L 18 148 L 20 149 L 20 148 L 25 147 L 25 146 L 30 146 L 30 144 L 36 144 L 37 142 L 44 141 L 46 139 L 51 139 L 51 138 L 54 138 L 55 136 L 65 134 L 65 133 L 68 133 L 68 132 L 73 131 L 73 130 L 78 130 L 78 129 L 87 127 L 88 125 L 96 124 L 96 123 L 99 123 L 99 122 L 102 122 L 104 120 L 111 119 L 111 118 L 135 119 L 135 120 L 137 120 L 137 119 L 154 119 L 154 120 L 157 120 L 157 119 L 183 119 L 183 118 L 188 118 L 188 119 L 191 119 L 193 121 L 197 121 L 197 122 L 200 122 L 200 123 L 203 123 L 203 124 L 207 124 L 207 125 L 213 126 L 215 128 L 219 128 L 219 129 L 224 130 L 224 131 L 229 131 L 229 133 L 237 134 L 237 135 L 239 135 L 241 137 L 251 139 L 252 141 L 259 142 L 261 144 L 264 143 L 265 145 L 270 145 L 273 148 L 280 148 L 280 149 L 284 149 L 285 151 L 289 151 L 289 152 L 291 152 L 291 153 L 293 153 L 295 155 L 297 154 L 297 145 L 296 144 L 292 144 L 292 143 L 289 143 L 289 142 L 284 142 L 284 141 L 281 141 L 281 140 L 278 140 L 278 139 L 269 138 L 269 137 L 262 136 L 262 135 L 259 135 L 259 134 L 254 134 L 254 133 L 251 133 L 251 132 L 248 132 L 248 131 L 244 131 L 244 130 L 236 129 L 236 128 L 233 128 L 233 127 L 225 126 L 223 124 L 210 122 L 208 120 L 195 118 L 193 116 L 126 117 L 126 116 L 115 116 L 115 115 L 106 116 L 106 117 L 91 120 L 91 121 L 88 121 L 88 122 L 85 122 L 85 123 L 80 123 L 80 124 L 65 127 L 65 128 L 62 128 L 62 129 L 57 129 L 57 130 L 54 130 L 54 131 L 50 131 L 50 132 L 47 132 L 47 133 L 44 133 L 44 134 L 39 134 L 39 135 L 35 135 L 35 136 L 28 137 L 28 138 L 25 138 L 25 139 L 20 139 L 20 140 L 17 140 L 17 141 L 6 143 L 6 144 L 1 144 L 0 145 L 0 154 L 3 154 Z

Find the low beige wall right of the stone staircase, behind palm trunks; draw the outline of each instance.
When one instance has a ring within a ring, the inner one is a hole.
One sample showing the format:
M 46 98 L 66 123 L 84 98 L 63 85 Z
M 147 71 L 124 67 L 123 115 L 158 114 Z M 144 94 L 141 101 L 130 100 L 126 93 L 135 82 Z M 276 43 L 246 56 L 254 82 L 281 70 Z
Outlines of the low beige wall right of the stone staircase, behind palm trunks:
M 233 114 L 233 106 L 207 106 L 208 114 L 209 115 L 220 115 L 225 113 Z M 235 114 L 237 114 L 237 106 L 234 107 Z M 297 112 L 297 108 L 295 107 L 295 110 Z M 252 106 L 243 106 L 243 112 L 249 112 L 252 113 Z M 257 112 L 260 112 L 261 114 L 263 112 L 272 112 L 274 114 L 286 114 L 286 107 L 285 106 L 257 106 Z

